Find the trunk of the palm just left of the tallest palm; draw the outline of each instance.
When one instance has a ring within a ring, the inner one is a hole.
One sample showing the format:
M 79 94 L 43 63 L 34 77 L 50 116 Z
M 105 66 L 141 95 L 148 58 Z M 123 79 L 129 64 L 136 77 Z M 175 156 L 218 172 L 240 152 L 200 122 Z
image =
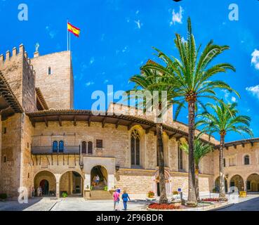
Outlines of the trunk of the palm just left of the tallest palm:
M 163 145 L 163 127 L 162 124 L 157 124 L 157 152 L 159 158 L 159 188 L 160 198 L 159 203 L 168 203 L 166 198 L 166 181 L 164 176 L 164 145 Z

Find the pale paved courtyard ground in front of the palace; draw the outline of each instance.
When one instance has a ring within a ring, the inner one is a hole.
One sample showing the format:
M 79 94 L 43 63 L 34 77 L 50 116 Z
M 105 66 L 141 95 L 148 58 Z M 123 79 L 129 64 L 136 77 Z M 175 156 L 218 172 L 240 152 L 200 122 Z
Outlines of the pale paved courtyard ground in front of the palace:
M 128 203 L 128 211 L 142 211 L 148 203 L 144 200 L 134 200 Z M 123 208 L 120 202 L 120 208 Z M 33 198 L 29 203 L 20 204 L 17 201 L 0 202 L 0 211 L 112 211 L 112 200 L 84 200 L 84 198 Z M 239 198 L 239 203 L 218 211 L 259 211 L 259 195 L 248 195 Z

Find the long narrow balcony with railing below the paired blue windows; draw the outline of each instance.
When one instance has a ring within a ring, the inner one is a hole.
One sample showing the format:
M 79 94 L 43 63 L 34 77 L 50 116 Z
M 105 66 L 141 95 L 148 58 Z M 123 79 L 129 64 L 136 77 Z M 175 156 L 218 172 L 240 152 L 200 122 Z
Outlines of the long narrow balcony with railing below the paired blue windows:
M 80 155 L 80 148 L 64 146 L 63 150 L 53 151 L 52 146 L 32 146 L 32 155 Z

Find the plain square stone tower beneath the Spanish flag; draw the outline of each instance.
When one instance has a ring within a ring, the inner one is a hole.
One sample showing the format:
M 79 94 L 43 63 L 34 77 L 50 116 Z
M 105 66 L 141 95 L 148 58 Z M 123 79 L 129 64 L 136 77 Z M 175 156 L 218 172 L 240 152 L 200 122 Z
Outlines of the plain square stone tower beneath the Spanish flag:
M 73 108 L 74 79 L 70 51 L 34 57 L 32 65 L 36 72 L 36 87 L 41 89 L 48 108 Z M 51 68 L 51 75 L 48 75 L 48 68 Z

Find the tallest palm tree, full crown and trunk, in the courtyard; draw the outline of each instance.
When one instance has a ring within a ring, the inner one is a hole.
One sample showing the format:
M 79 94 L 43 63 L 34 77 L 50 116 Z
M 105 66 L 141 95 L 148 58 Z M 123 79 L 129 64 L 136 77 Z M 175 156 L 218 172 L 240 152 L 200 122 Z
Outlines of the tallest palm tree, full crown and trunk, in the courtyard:
M 199 53 L 201 46 L 199 46 L 198 49 L 196 47 L 190 18 L 188 18 L 187 25 L 187 41 L 184 41 L 180 34 L 175 34 L 175 46 L 178 49 L 180 60 L 173 56 L 166 56 L 165 53 L 156 49 L 158 57 L 164 61 L 166 66 L 147 63 L 144 68 L 158 70 L 161 74 L 168 77 L 168 85 L 174 84 L 172 90 L 176 94 L 174 101 L 179 102 L 175 112 L 175 120 L 181 108 L 187 103 L 189 124 L 188 145 L 190 146 L 187 205 L 197 206 L 194 173 L 195 113 L 198 105 L 205 109 L 205 105 L 201 102 L 202 98 L 211 98 L 215 101 L 219 100 L 215 94 L 215 89 L 226 89 L 230 92 L 234 91 L 225 82 L 220 80 L 212 81 L 211 78 L 219 72 L 227 72 L 227 70 L 235 71 L 235 69 L 229 63 L 211 65 L 213 59 L 220 55 L 220 53 L 230 49 L 229 46 L 219 46 L 213 44 L 213 41 L 209 41 L 204 51 Z M 175 86 L 177 88 L 175 88 Z M 234 92 L 237 94 L 236 91 Z M 239 94 L 237 95 L 239 96 Z

